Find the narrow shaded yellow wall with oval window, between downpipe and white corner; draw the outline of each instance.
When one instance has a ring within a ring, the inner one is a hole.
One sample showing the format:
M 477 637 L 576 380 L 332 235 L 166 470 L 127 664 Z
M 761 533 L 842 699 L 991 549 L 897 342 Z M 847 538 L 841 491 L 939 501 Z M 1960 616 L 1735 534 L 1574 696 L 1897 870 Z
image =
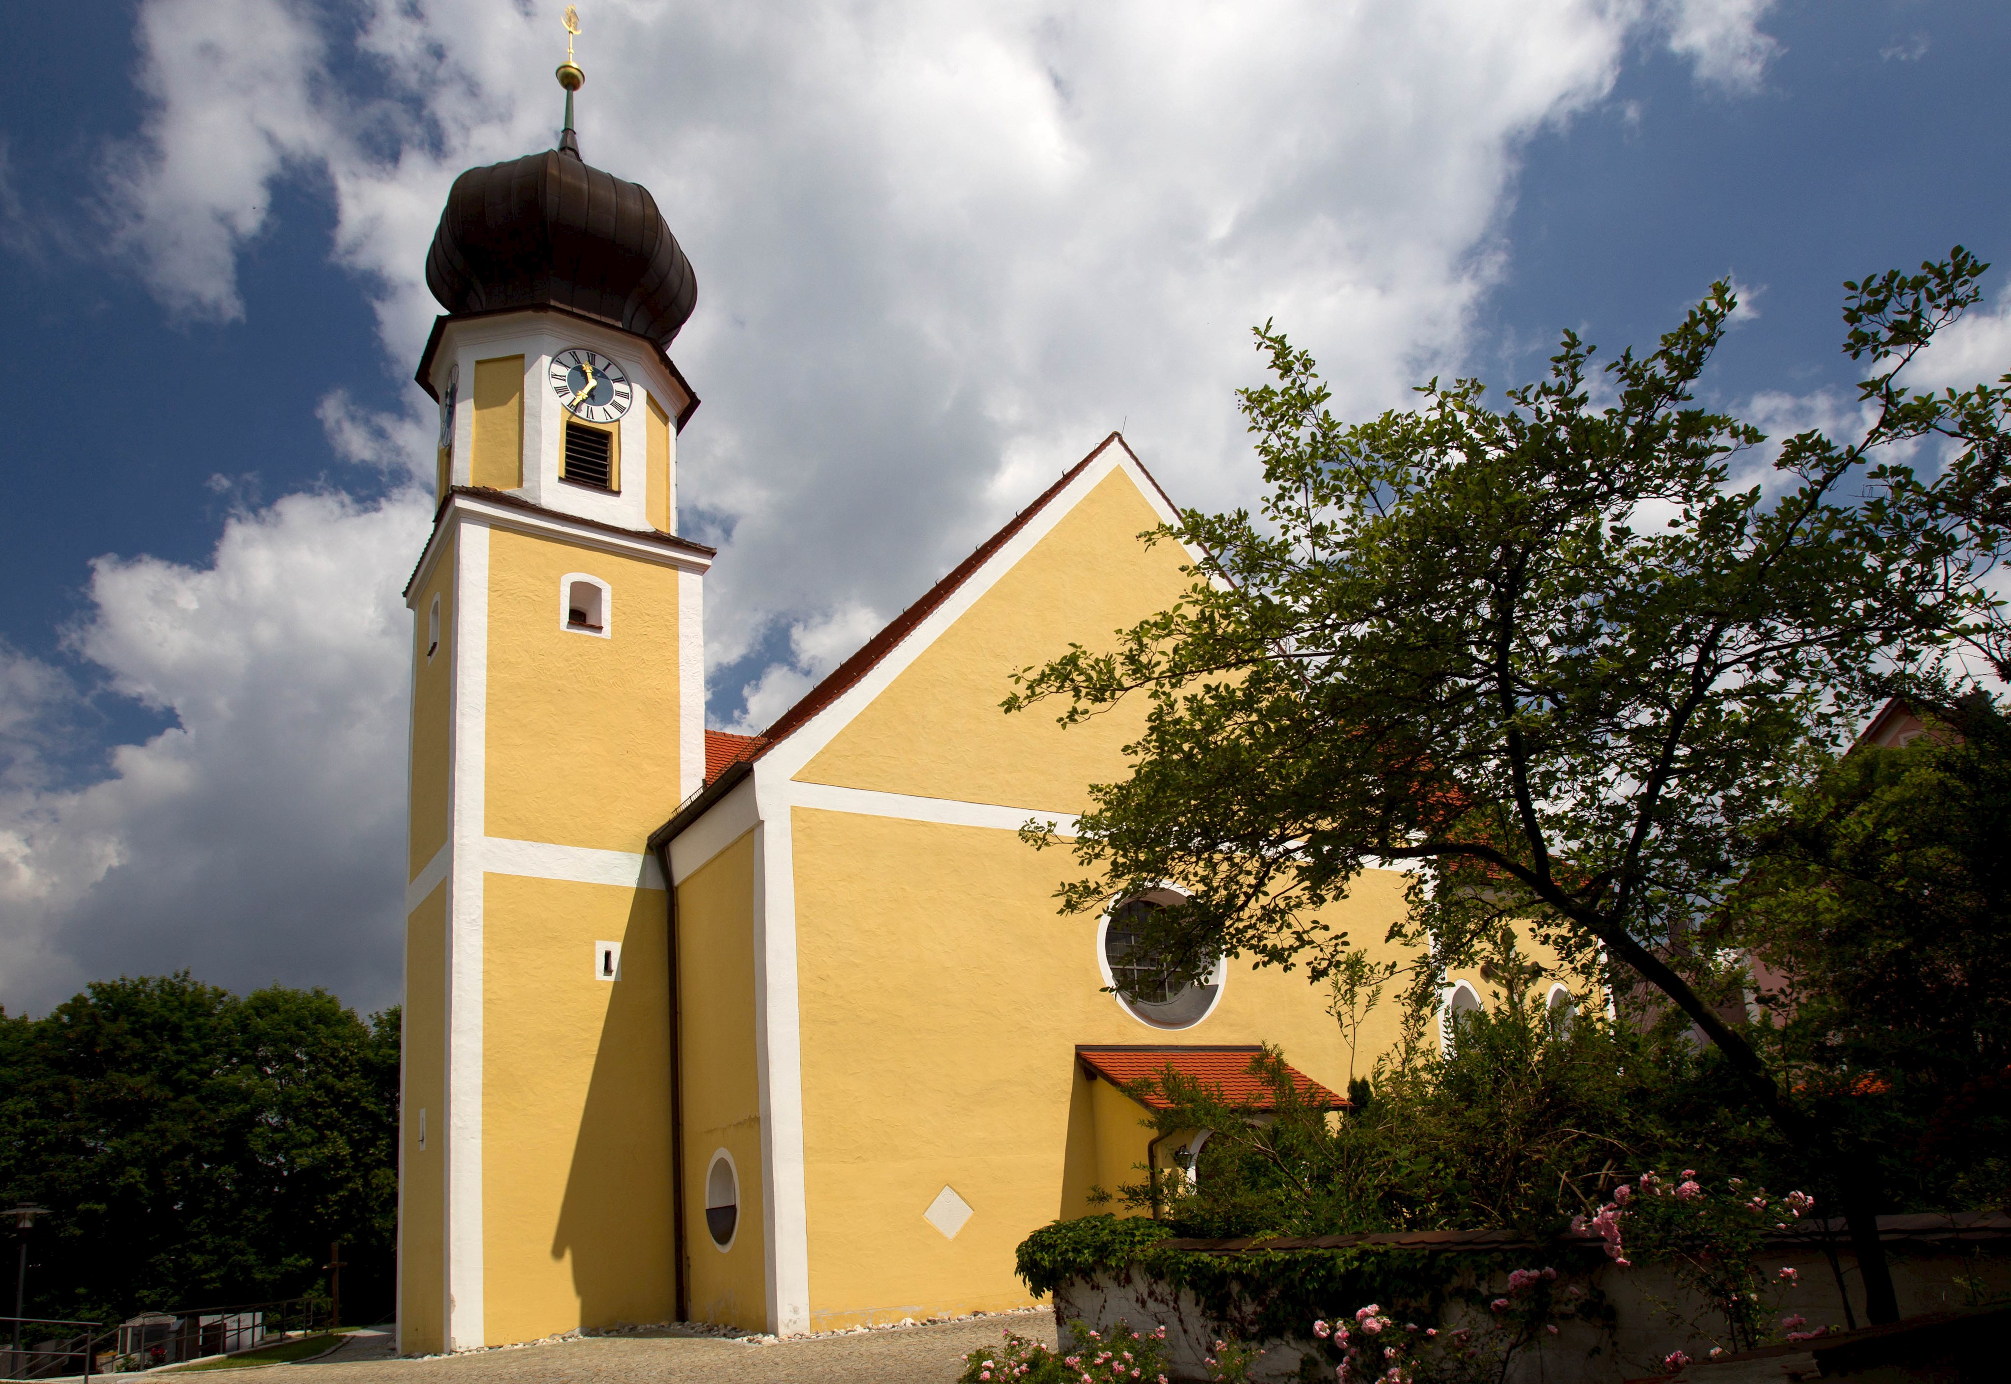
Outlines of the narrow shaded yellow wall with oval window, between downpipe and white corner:
M 760 1199 L 760 1086 L 754 1066 L 754 833 L 678 885 L 684 1030 L 684 1187 L 690 1314 L 768 1326 Z M 718 1149 L 740 1171 L 740 1223 L 720 1249 L 706 1231 L 706 1173 Z

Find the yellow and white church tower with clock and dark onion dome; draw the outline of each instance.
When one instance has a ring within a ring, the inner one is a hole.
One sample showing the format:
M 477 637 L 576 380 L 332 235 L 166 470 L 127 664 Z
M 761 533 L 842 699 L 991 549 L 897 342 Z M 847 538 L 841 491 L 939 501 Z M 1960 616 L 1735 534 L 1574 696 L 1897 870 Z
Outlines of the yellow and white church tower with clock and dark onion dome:
M 567 12 L 569 28 L 575 28 Z M 577 32 L 577 30 L 575 30 Z M 668 354 L 692 266 L 644 187 L 557 149 L 454 179 L 438 511 L 412 610 L 400 1350 L 674 1316 L 668 893 L 704 776 L 700 583 Z

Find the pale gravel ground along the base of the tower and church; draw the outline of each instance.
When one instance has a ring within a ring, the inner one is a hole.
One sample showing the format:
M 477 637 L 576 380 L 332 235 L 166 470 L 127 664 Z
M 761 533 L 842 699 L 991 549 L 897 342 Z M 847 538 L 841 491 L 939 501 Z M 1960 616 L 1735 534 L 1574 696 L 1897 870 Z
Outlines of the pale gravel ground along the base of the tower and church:
M 772 1346 L 748 1346 L 706 1336 L 670 1336 L 666 1332 L 589 1336 L 430 1360 L 386 1358 L 388 1342 L 376 1338 L 356 1340 L 326 1360 L 276 1368 L 290 1374 L 312 1372 L 312 1378 L 296 1384 L 515 1384 L 517 1380 L 563 1380 L 565 1384 L 639 1384 L 642 1380 L 951 1384 L 963 1372 L 963 1352 L 991 1346 L 1003 1328 L 1054 1344 L 1054 1314 L 1040 1312 L 855 1336 L 782 1340 Z M 227 1374 L 217 1376 L 217 1384 L 227 1378 Z

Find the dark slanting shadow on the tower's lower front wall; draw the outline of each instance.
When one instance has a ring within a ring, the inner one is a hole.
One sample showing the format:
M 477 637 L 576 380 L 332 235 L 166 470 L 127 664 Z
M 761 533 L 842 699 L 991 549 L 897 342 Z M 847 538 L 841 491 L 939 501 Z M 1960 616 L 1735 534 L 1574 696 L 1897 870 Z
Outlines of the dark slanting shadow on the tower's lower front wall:
M 565 1179 L 551 1257 L 571 1255 L 581 1326 L 676 1316 L 670 1159 L 670 970 L 664 895 L 635 891 L 619 978 Z

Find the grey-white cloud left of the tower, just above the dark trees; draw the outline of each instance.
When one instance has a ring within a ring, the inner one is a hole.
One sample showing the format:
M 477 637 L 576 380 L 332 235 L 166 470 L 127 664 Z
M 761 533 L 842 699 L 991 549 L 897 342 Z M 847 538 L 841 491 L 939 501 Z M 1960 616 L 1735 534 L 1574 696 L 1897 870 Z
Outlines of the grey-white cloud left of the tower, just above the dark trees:
M 93 563 L 70 632 L 109 690 L 173 716 L 113 750 L 109 774 L 0 787 L 0 978 L 10 1006 L 84 980 L 179 966 L 219 984 L 326 984 L 364 1004 L 398 988 L 408 616 L 398 589 L 428 523 L 292 495 L 235 515 L 207 567 Z M 74 700 L 0 656 L 6 692 Z M 12 696 L 6 698 L 12 702 Z M 0 716 L 16 764 L 58 726 Z

